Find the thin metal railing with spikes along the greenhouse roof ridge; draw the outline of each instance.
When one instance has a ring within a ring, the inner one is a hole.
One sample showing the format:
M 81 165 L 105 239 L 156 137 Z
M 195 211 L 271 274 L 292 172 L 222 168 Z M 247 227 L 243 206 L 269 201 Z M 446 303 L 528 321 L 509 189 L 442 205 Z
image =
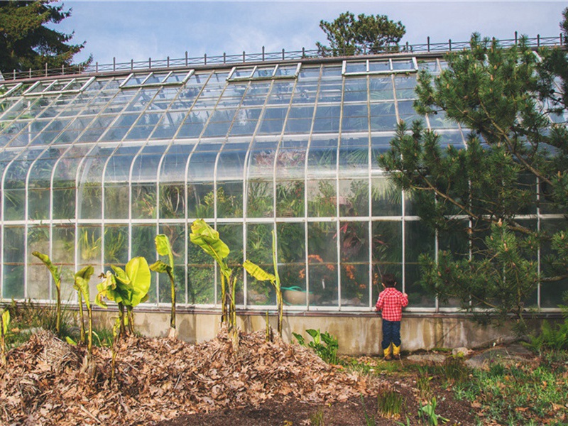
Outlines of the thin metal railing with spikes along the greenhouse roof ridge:
M 498 40 L 503 47 L 510 47 L 518 43 L 518 33 L 515 31 L 515 38 Z M 540 48 L 543 46 L 564 46 L 566 43 L 565 38 L 562 33 L 557 37 L 541 37 L 537 35 L 535 38 L 525 38 L 530 47 Z M 404 45 L 398 45 L 395 50 L 386 50 L 385 53 L 415 53 L 415 54 L 427 54 L 427 53 L 442 53 L 451 52 L 452 50 L 461 50 L 469 47 L 469 41 L 452 42 L 451 39 L 443 43 L 431 43 L 430 37 L 427 37 L 426 43 L 409 44 L 408 42 Z M 372 53 L 373 55 L 375 53 Z M 367 55 L 363 53 L 362 56 Z M 265 62 L 265 61 L 275 61 L 275 60 L 302 60 L 309 58 L 329 58 L 332 55 L 325 55 L 321 53 L 320 50 L 284 50 L 279 52 L 266 52 L 263 46 L 261 53 L 245 53 L 239 55 L 223 55 L 218 56 L 198 56 L 195 58 L 190 58 L 187 52 L 185 52 L 185 58 L 180 59 L 170 59 L 163 60 L 153 60 L 148 58 L 145 61 L 134 61 L 130 62 L 116 62 L 116 58 L 113 58 L 111 64 L 99 64 L 95 62 L 94 65 L 88 65 L 86 67 L 81 67 L 80 65 L 72 66 L 62 66 L 60 68 L 49 69 L 48 65 L 45 64 L 45 69 L 43 70 L 28 70 L 28 71 L 16 71 L 13 70 L 8 75 L 4 75 L 4 82 L 9 80 L 24 80 L 38 77 L 49 77 L 57 75 L 77 75 L 77 74 L 91 74 L 99 72 L 120 72 L 120 71 L 134 71 L 134 70 L 151 70 L 151 69 L 163 69 L 172 67 L 191 67 L 191 66 L 204 66 L 204 65 L 238 65 L 246 62 Z

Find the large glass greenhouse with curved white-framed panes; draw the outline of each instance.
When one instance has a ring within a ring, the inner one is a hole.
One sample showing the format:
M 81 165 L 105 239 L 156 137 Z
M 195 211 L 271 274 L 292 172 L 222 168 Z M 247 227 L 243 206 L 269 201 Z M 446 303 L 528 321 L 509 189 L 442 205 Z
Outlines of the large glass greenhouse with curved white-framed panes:
M 372 312 L 385 272 L 409 294 L 408 312 L 457 311 L 417 283 L 420 253 L 454 241 L 420 222 L 376 161 L 400 120 L 465 147 L 466 129 L 413 109 L 418 70 L 442 67 L 442 55 L 399 53 L 0 82 L 2 299 L 54 299 L 33 251 L 62 267 L 73 301 L 75 271 L 151 263 L 165 234 L 178 307 L 219 312 L 219 272 L 189 239 L 204 219 L 235 267 L 249 259 L 272 271 L 274 235 L 290 315 Z M 551 229 L 561 218 L 527 216 Z M 270 283 L 239 271 L 237 309 L 273 310 Z M 540 289 L 535 306 L 555 308 L 556 292 Z M 153 275 L 146 307 L 167 312 L 170 297 L 167 277 Z

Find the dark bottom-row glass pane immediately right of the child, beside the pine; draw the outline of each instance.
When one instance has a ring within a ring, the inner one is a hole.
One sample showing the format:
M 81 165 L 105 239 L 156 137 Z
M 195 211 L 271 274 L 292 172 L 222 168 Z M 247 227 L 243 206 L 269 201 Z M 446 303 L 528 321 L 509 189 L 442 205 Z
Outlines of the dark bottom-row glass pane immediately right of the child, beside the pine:
M 420 254 L 435 255 L 435 235 L 430 227 L 420 221 L 405 222 L 405 293 L 409 307 L 434 307 L 435 297 L 420 285 Z

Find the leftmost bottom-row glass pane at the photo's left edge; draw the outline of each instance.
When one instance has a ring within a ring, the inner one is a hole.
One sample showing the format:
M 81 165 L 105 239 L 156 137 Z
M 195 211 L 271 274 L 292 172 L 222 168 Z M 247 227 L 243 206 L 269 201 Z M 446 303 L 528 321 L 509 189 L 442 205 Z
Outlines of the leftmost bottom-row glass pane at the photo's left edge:
M 25 246 L 25 228 L 23 226 L 4 226 L 4 274 L 2 297 L 4 299 L 24 298 L 23 260 Z M 45 267 L 44 267 L 45 268 Z

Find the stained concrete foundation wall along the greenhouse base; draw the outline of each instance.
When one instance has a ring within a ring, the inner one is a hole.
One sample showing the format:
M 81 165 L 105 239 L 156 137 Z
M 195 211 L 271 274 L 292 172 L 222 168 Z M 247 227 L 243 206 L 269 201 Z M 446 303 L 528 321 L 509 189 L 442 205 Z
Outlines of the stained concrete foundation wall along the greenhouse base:
M 111 328 L 116 312 L 96 312 L 97 322 Z M 180 313 L 177 315 L 178 337 L 185 342 L 200 343 L 215 337 L 220 327 L 219 313 Z M 244 332 L 266 329 L 266 317 L 261 313 L 247 312 L 237 317 L 239 328 Z M 276 318 L 269 318 L 276 329 Z M 136 312 L 136 331 L 148 337 L 166 337 L 170 327 L 168 312 Z M 314 313 L 285 315 L 283 339 L 293 342 L 292 332 L 302 334 L 308 341 L 306 329 L 320 329 L 337 337 L 339 353 L 346 355 L 379 354 L 381 345 L 381 317 L 373 314 L 345 315 Z M 412 314 L 403 317 L 400 327 L 403 351 L 418 349 L 469 348 L 487 346 L 513 337 L 510 327 L 496 329 L 481 327 L 465 315 Z

